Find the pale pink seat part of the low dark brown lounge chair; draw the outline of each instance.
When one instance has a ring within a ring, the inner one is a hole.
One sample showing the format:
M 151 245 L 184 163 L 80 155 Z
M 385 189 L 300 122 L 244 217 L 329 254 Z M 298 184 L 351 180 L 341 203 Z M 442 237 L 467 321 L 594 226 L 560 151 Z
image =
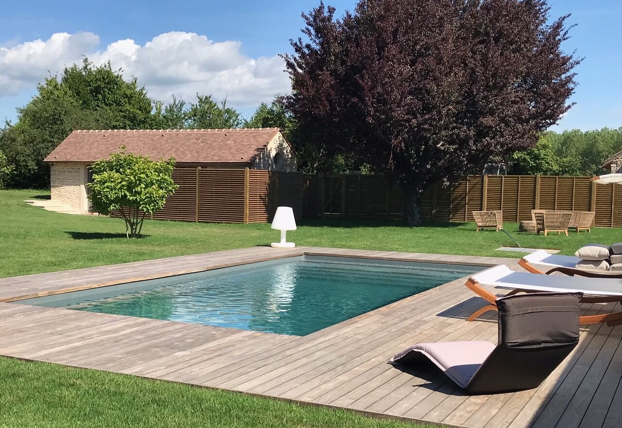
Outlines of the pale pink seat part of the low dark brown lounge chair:
M 455 383 L 465 388 L 473 374 L 494 350 L 495 345 L 484 340 L 470 342 L 417 343 L 414 347 L 395 355 L 396 361 L 411 352 L 426 356 Z

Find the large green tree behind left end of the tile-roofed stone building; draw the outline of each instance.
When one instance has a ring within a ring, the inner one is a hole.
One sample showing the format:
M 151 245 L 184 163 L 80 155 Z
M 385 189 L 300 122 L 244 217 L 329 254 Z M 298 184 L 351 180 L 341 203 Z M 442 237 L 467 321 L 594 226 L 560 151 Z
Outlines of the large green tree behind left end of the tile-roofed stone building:
M 37 95 L 17 109 L 17 122 L 0 132 L 0 150 L 15 165 L 12 184 L 47 187 L 49 165 L 43 159 L 74 129 L 152 127 L 152 104 L 136 79 L 124 80 L 109 63 L 95 67 L 86 58 L 60 78 L 37 85 Z

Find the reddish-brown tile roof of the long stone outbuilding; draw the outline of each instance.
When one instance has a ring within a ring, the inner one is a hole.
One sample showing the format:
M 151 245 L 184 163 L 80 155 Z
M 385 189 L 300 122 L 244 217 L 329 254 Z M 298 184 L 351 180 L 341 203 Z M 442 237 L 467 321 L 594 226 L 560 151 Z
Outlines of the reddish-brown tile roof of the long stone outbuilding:
M 279 128 L 73 131 L 45 162 L 95 162 L 128 152 L 177 162 L 252 162 Z

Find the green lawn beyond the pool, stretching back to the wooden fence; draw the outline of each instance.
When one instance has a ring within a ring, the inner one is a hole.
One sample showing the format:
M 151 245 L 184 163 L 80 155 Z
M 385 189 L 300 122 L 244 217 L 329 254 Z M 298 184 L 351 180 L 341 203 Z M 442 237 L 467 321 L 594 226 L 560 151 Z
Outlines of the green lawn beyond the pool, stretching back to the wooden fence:
M 46 193 L 0 190 L 0 277 L 244 248 L 278 239 L 278 232 L 267 224 L 147 220 L 143 227 L 147 236 L 128 240 L 122 220 L 53 213 L 22 202 L 41 195 Z M 620 240 L 620 230 L 611 228 L 593 228 L 592 233 L 570 233 L 568 237 L 521 233 L 517 223 L 506 223 L 504 228 L 523 247 L 560 249 L 561 254 L 573 254 L 590 242 Z M 299 245 L 310 246 L 521 256 L 495 251 L 514 244 L 503 233 L 475 232 L 475 223 L 430 222 L 424 227 L 407 228 L 401 221 L 391 220 L 305 220 L 288 236 Z

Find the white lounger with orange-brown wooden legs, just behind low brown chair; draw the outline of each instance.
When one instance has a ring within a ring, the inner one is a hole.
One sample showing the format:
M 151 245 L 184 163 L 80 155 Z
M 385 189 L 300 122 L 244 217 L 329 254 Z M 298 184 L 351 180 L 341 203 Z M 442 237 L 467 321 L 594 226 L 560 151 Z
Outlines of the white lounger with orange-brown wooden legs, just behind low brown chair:
M 497 310 L 498 297 L 482 287 L 482 284 L 502 289 L 510 289 L 508 295 L 518 292 L 580 292 L 583 303 L 617 302 L 622 299 L 622 281 L 617 278 L 585 278 L 561 275 L 541 275 L 526 272 L 514 272 L 508 266 L 499 264 L 485 271 L 478 272 L 466 281 L 466 287 L 485 299 L 489 304 L 476 310 L 466 320 L 473 321 L 490 310 Z M 580 323 L 593 324 L 606 322 L 616 325 L 622 322 L 622 312 L 602 315 L 585 315 Z

